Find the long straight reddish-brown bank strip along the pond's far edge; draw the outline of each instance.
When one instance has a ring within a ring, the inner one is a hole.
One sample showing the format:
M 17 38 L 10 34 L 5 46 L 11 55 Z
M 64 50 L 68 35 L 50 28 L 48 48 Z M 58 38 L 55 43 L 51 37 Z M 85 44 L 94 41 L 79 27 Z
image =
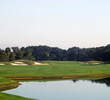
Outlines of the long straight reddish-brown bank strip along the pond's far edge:
M 105 78 L 110 74 L 86 74 L 86 75 L 65 75 L 65 76 L 14 76 L 7 77 L 12 80 L 42 80 L 42 79 L 81 79 L 81 78 Z

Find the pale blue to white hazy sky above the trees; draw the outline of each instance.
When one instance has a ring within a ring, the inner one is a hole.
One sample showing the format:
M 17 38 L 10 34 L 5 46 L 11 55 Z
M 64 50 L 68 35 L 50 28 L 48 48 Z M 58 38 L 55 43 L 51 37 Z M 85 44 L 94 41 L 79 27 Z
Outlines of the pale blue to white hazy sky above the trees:
M 110 44 L 110 0 L 0 0 L 0 48 Z

